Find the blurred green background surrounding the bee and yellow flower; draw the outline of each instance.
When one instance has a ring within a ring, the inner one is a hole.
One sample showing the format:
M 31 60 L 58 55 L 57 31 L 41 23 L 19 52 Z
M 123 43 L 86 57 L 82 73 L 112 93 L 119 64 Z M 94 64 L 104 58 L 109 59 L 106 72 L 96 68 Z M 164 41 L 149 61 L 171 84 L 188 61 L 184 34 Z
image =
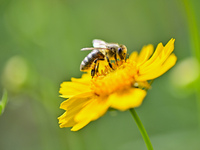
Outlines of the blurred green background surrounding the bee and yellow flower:
M 194 38 L 200 34 L 200 1 L 189 2 L 0 0 L 0 97 L 3 89 L 8 92 L 0 116 L 0 150 L 146 149 L 129 111 L 107 112 L 78 132 L 58 126 L 64 100 L 60 84 L 81 76 L 79 66 L 88 52 L 80 49 L 92 46 L 95 38 L 124 44 L 129 53 L 176 39 L 177 65 L 154 81 L 136 111 L 155 150 L 199 150 L 194 58 L 200 49 L 194 41 L 196 48 L 200 41 Z

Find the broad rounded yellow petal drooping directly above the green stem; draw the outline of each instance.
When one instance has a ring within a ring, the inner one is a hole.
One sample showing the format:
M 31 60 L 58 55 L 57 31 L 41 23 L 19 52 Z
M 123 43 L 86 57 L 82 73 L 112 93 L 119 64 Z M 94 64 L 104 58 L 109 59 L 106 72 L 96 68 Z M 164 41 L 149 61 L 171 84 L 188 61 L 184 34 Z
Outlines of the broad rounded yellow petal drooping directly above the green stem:
M 125 111 L 141 105 L 146 96 L 146 91 L 139 88 L 131 88 L 109 96 L 110 107 Z

